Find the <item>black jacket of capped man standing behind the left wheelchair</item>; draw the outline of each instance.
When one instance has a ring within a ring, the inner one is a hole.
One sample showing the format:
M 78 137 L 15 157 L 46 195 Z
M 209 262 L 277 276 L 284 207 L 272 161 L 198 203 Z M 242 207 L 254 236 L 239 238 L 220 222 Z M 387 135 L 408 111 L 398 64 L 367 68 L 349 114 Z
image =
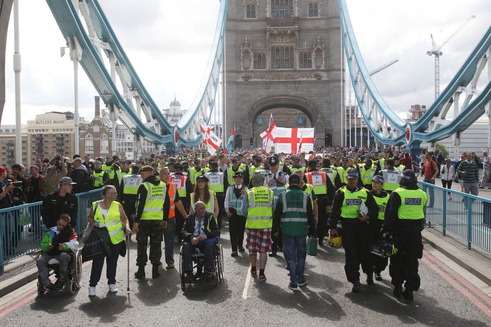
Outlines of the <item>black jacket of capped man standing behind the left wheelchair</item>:
M 60 190 L 56 189 L 42 201 L 42 222 L 48 228 L 54 227 L 61 214 L 68 214 L 71 218 L 70 225 L 77 229 L 78 200 L 75 194 L 70 193 L 61 197 Z

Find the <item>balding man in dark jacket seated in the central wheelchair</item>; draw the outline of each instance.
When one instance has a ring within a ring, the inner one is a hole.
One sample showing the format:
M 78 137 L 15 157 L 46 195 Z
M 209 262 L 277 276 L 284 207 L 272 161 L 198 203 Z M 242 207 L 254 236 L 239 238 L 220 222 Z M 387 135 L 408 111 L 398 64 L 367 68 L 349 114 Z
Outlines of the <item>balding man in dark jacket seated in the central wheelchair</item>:
M 193 282 L 193 258 L 194 253 L 205 254 L 203 271 L 205 278 L 211 278 L 215 273 L 213 257 L 215 255 L 215 244 L 218 244 L 220 230 L 212 214 L 206 212 L 205 203 L 197 201 L 194 204 L 194 212 L 189 214 L 184 221 L 181 230 L 183 239 L 183 272 L 185 281 Z

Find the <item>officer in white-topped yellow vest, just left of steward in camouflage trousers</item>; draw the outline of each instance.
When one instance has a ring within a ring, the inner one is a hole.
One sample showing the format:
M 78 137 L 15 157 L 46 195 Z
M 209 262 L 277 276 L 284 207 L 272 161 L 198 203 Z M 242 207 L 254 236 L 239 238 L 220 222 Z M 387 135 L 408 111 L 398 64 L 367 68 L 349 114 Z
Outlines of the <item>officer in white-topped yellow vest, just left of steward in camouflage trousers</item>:
M 124 175 L 121 179 L 119 194 L 121 194 L 121 204 L 124 212 L 129 220 L 129 228 L 133 229 L 135 223 L 137 193 L 143 179 L 139 174 L 140 167 L 138 165 L 131 166 L 131 174 Z

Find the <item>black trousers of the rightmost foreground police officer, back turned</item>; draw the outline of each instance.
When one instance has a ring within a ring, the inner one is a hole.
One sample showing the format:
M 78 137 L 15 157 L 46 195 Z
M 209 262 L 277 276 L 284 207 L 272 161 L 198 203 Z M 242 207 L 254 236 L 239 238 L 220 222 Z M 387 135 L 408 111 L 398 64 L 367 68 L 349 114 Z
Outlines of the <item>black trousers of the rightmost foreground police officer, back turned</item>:
M 422 222 L 398 226 L 394 229 L 394 236 L 398 239 L 397 254 L 391 256 L 389 274 L 392 285 L 402 285 L 408 291 L 417 291 L 421 284 L 418 274 L 418 259 L 423 256 L 423 244 L 421 242 Z

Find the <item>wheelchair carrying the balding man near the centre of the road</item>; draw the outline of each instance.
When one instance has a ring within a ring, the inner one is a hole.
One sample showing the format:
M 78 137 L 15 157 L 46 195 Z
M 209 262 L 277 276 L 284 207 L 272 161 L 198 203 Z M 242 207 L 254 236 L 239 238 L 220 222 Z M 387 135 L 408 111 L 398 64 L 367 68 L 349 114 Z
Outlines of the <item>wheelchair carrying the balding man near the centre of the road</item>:
M 185 280 L 185 273 L 183 271 L 183 247 L 179 250 L 179 275 L 181 276 L 181 290 L 186 292 L 187 288 L 191 284 L 203 284 L 203 283 L 214 283 L 215 287 L 218 286 L 218 281 L 224 281 L 224 251 L 221 248 L 221 244 L 215 244 L 215 255 L 213 256 L 213 266 L 215 272 L 212 278 L 208 275 L 203 274 L 203 266 L 205 264 L 205 254 L 204 253 L 194 253 L 193 258 L 193 271 L 196 269 L 196 278 L 194 281 L 189 282 Z

